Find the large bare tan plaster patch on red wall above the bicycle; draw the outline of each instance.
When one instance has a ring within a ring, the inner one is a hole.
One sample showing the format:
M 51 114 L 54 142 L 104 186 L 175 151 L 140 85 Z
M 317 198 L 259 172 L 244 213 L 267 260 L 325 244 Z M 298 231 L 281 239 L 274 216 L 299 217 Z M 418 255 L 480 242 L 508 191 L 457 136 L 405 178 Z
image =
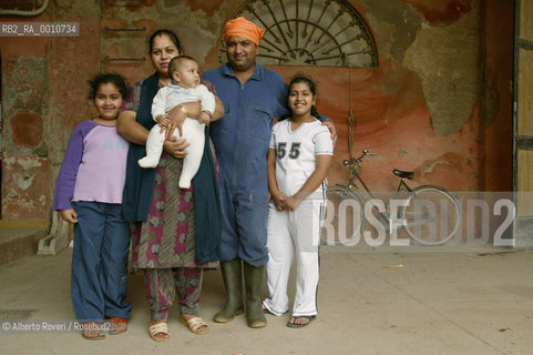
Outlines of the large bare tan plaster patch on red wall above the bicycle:
M 472 9 L 445 27 L 424 24 L 403 64 L 419 73 L 435 132 L 459 132 L 479 98 L 478 16 Z

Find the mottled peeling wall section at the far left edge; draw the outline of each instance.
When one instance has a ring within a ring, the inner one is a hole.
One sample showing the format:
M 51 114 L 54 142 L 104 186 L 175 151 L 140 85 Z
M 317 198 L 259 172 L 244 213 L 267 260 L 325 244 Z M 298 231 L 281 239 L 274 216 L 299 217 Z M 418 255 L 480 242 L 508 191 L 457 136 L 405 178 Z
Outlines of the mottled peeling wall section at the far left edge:
M 2 219 L 44 219 L 50 186 L 48 61 L 39 50 L 20 57 L 4 52 L 2 48 Z

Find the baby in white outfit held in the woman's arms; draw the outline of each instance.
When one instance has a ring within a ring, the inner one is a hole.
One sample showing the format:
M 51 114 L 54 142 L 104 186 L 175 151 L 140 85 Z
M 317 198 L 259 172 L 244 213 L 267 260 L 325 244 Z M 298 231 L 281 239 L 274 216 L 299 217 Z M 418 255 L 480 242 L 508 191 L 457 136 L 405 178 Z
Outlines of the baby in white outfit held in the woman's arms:
M 187 55 L 173 58 L 168 64 L 168 72 L 172 82 L 167 87 L 161 88 L 152 102 L 152 116 L 158 125 L 154 125 L 150 131 L 146 140 L 146 156 L 139 160 L 139 165 L 142 168 L 157 166 L 165 142 L 165 132 L 161 132 L 161 126 L 171 124 L 166 113 L 178 104 L 199 101 L 202 113 L 198 120 L 186 118 L 182 126 L 183 138 L 187 140 L 189 146 L 186 149 L 187 155 L 183 159 L 178 185 L 181 189 L 188 189 L 202 161 L 205 144 L 204 129 L 215 111 L 215 97 L 204 84 L 199 83 L 198 64 L 193 58 Z M 180 138 L 177 130 L 173 134 Z

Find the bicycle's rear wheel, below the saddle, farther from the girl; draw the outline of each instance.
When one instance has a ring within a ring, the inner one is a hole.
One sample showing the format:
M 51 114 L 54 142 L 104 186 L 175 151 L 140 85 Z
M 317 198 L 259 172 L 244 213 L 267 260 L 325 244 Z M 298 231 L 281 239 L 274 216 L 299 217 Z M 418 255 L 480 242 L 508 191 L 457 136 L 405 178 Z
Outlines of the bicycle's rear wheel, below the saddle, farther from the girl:
M 401 217 L 403 229 L 422 245 L 448 242 L 461 225 L 461 205 L 445 189 L 423 185 L 412 190 Z

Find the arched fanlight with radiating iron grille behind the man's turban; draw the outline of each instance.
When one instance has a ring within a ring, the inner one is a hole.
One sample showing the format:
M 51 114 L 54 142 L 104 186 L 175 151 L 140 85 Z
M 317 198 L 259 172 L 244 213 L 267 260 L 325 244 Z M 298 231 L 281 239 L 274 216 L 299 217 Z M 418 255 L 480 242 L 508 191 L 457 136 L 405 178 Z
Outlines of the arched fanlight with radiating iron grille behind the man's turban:
M 262 65 L 377 67 L 378 54 L 369 27 L 342 0 L 252 0 L 243 16 L 265 29 L 257 62 Z M 224 42 L 219 61 L 225 61 Z

